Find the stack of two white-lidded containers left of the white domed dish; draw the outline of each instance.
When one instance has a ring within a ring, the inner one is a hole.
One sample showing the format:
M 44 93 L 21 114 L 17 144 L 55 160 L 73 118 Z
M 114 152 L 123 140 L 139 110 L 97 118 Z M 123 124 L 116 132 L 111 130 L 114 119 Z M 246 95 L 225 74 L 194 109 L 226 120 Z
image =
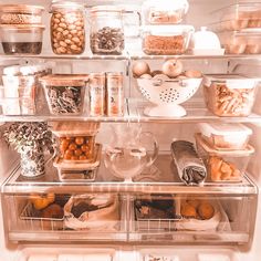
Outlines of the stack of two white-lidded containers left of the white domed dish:
M 146 54 L 182 54 L 194 27 L 177 25 L 189 8 L 187 0 L 147 0 L 143 4 L 143 51 Z M 175 25 L 174 25 L 175 24 Z

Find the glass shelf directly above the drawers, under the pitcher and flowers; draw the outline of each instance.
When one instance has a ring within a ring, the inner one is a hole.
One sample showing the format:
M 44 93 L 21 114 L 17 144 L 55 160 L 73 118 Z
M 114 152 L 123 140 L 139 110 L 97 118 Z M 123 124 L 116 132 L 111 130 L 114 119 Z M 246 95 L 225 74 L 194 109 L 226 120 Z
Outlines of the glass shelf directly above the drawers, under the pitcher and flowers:
M 153 174 L 150 174 L 150 173 Z M 150 181 L 147 181 L 150 180 Z M 152 181 L 155 180 L 155 181 Z M 160 181 L 157 181 L 160 180 Z M 206 180 L 201 186 L 186 186 L 176 173 L 171 156 L 159 155 L 155 166 L 133 182 L 124 182 L 115 178 L 102 163 L 94 182 L 71 181 L 62 182 L 56 169 L 50 163 L 45 175 L 27 179 L 20 175 L 19 165 L 12 170 L 9 178 L 2 185 L 3 194 L 81 194 L 81 192 L 126 192 L 126 194 L 197 194 L 197 195 L 257 195 L 258 188 L 246 175 L 241 182 L 211 182 Z

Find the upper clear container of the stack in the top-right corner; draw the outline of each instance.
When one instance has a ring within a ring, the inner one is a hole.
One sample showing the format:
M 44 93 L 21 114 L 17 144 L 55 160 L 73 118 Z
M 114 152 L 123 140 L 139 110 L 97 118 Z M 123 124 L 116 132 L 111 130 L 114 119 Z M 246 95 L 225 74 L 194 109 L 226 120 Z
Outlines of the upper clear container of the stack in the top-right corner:
M 213 13 L 218 17 L 216 29 L 241 30 L 261 27 L 261 3 L 238 3 L 222 8 Z

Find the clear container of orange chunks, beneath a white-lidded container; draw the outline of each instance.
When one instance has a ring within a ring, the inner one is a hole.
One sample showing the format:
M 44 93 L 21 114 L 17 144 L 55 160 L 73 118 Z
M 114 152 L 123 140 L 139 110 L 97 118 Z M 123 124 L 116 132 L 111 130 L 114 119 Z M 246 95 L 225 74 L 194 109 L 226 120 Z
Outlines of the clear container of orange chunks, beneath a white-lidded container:
M 248 145 L 244 149 L 217 150 L 208 145 L 200 134 L 196 134 L 198 154 L 203 159 L 212 181 L 241 181 L 254 148 Z

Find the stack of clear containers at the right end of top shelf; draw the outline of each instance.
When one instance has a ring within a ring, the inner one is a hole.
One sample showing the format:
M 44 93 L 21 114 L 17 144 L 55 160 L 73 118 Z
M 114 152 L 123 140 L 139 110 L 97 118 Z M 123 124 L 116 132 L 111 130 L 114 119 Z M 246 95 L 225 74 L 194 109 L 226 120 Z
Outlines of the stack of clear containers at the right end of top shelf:
M 261 3 L 237 3 L 216 13 L 218 21 L 211 24 L 228 54 L 261 53 Z

